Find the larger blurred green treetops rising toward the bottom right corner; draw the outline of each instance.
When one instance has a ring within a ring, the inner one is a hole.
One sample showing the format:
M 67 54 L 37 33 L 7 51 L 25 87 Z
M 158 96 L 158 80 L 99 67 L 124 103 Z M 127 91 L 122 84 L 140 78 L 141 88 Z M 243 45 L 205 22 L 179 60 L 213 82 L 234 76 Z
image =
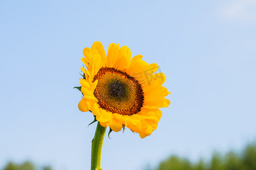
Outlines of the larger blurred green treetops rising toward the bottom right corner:
M 256 143 L 247 145 L 240 153 L 229 151 L 222 155 L 214 152 L 208 161 L 200 159 L 193 163 L 172 155 L 160 162 L 155 170 L 256 170 Z

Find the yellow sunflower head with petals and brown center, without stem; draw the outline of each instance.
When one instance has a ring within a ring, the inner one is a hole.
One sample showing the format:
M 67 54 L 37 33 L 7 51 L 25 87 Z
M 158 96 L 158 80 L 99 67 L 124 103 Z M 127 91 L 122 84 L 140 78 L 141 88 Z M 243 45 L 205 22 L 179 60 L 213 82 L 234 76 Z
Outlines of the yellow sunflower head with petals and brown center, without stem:
M 170 92 L 162 84 L 164 73 L 156 63 L 148 64 L 141 55 L 131 58 L 127 46 L 110 44 L 106 55 L 101 42 L 85 48 L 81 58 L 86 68 L 80 79 L 83 98 L 82 112 L 92 112 L 103 127 L 120 131 L 124 126 L 139 133 L 141 138 L 156 130 L 162 112 L 168 107 Z M 154 74 L 155 73 L 155 74 Z

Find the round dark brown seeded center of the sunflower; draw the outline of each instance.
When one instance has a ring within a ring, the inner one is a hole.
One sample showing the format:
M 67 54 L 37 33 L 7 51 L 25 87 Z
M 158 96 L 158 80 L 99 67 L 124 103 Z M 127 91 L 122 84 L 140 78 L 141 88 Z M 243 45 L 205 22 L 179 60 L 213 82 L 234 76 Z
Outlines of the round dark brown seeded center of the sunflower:
M 144 96 L 138 80 L 110 67 L 102 67 L 94 76 L 95 80 L 98 84 L 94 96 L 102 109 L 129 116 L 141 111 Z

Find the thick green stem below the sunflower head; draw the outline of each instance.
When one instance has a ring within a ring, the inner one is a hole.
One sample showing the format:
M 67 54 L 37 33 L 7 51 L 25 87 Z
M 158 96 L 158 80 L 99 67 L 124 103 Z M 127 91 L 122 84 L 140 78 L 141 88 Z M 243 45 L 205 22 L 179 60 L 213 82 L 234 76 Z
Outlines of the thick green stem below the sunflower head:
M 102 144 L 105 137 L 106 128 L 100 125 L 98 122 L 94 138 L 92 140 L 92 162 L 91 170 L 100 170 L 101 169 L 101 150 Z

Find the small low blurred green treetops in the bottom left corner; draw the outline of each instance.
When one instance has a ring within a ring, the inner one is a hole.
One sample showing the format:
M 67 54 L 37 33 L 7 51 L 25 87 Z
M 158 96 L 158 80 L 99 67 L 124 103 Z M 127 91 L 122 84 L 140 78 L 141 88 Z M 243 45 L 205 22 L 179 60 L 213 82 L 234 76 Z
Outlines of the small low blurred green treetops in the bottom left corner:
M 13 162 L 9 162 L 3 168 L 3 170 L 39 170 L 39 169 L 40 170 L 52 170 L 52 168 L 49 167 L 49 166 L 38 168 L 29 161 L 26 161 L 26 162 L 21 163 L 21 164 L 16 164 L 16 163 L 13 163 Z

